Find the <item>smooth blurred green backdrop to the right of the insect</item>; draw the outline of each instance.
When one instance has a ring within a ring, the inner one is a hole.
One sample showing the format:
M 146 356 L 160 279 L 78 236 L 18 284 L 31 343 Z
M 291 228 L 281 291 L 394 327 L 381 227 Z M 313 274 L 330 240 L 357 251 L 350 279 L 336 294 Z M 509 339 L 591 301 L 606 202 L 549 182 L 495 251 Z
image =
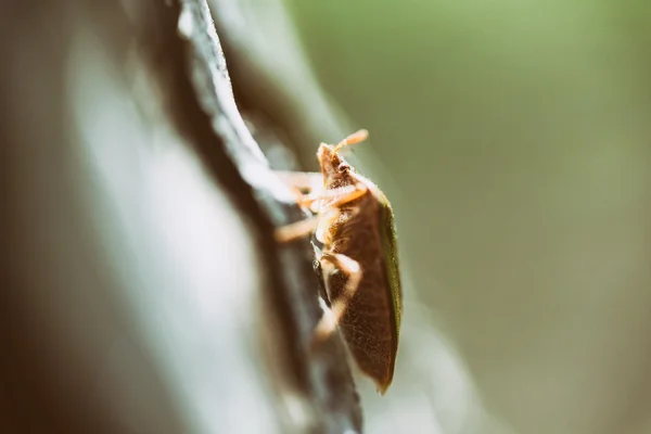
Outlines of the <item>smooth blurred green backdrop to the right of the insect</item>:
M 285 4 L 488 412 L 651 433 L 651 5 Z

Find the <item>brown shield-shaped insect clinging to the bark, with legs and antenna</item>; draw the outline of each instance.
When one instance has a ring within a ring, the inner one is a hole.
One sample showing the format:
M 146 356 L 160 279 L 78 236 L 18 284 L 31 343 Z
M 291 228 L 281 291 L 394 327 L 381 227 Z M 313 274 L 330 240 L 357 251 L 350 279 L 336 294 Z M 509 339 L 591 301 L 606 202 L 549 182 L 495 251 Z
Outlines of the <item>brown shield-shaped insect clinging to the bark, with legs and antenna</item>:
M 357 365 L 384 394 L 393 381 L 403 291 L 393 209 L 382 191 L 341 155 L 368 137 L 359 130 L 336 145 L 321 143 L 321 173 L 280 173 L 315 216 L 276 230 L 279 242 L 315 233 L 331 301 L 315 330 L 316 342 L 339 326 Z

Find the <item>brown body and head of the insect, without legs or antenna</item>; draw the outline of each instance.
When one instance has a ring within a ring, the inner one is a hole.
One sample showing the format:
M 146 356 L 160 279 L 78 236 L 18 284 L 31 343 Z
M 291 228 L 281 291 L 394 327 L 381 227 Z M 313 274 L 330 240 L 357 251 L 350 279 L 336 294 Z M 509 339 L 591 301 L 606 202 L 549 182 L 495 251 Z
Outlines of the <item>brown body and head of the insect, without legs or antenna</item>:
M 339 206 L 337 218 L 319 228 L 319 238 L 327 251 L 359 264 L 361 280 L 339 327 L 357 365 L 383 394 L 393 380 L 401 314 L 393 212 L 375 184 L 357 174 L 335 149 L 321 144 L 317 155 L 326 191 L 356 184 L 367 188 L 360 197 Z M 348 279 L 344 272 L 324 278 L 330 299 L 344 295 Z

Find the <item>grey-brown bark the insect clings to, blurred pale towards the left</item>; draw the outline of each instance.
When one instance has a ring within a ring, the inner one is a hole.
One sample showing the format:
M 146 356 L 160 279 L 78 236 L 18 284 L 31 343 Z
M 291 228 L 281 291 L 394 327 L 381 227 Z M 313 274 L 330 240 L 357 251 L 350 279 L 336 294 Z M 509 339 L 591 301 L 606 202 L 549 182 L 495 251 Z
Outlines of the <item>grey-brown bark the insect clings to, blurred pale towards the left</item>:
M 309 242 L 272 240 L 304 216 L 206 2 L 168 3 L 2 7 L 0 431 L 360 431 Z

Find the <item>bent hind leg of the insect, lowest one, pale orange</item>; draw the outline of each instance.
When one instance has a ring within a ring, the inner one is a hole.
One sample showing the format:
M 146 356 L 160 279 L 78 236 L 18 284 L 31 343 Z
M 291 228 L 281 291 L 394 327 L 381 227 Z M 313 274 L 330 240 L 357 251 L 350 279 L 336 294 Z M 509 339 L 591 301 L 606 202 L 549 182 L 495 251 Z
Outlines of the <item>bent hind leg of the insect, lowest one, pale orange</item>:
M 350 302 L 350 298 L 353 298 L 357 292 L 357 289 L 359 288 L 359 282 L 361 281 L 362 275 L 359 263 L 346 255 L 324 252 L 321 255 L 320 260 L 321 267 L 326 271 L 324 279 L 328 279 L 328 273 L 339 270 L 348 275 L 348 280 L 344 285 L 343 292 L 336 297 L 336 299 L 331 301 L 330 310 L 323 314 L 323 317 L 321 317 L 321 320 L 317 324 L 315 330 L 315 343 L 323 341 L 335 330 L 336 324 L 344 315 L 344 311 Z M 327 265 L 324 263 L 329 264 Z

